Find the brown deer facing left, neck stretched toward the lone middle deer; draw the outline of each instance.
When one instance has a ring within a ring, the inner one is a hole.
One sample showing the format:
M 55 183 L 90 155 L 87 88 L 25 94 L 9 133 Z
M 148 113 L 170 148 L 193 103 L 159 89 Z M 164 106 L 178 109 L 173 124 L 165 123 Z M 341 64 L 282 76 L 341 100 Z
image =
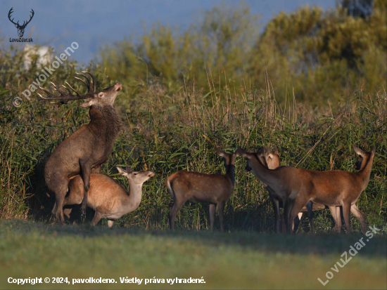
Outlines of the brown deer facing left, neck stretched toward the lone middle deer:
M 262 164 L 260 161 L 262 158 L 242 148 L 236 150 L 235 156 L 246 157 L 246 168 L 250 169 L 255 177 L 266 185 L 266 188 L 269 188 L 268 191 L 274 209 L 276 232 L 279 232 L 279 202 L 284 204 L 286 232 L 290 233 L 293 220 L 290 219 L 291 209 L 302 185 L 297 169 L 291 166 L 280 166 L 277 169 L 270 170 L 264 165 L 265 163 Z

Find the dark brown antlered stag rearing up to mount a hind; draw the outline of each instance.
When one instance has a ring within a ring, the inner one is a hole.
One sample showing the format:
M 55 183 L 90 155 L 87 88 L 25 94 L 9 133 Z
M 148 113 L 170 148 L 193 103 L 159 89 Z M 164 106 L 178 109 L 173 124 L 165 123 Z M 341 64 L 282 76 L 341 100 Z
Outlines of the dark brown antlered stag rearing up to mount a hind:
M 84 199 L 81 211 L 83 214 L 85 213 L 87 193 L 90 187 L 90 174 L 99 173 L 101 164 L 108 159 L 120 130 L 120 118 L 113 107 L 113 103 L 118 92 L 122 90 L 122 85 L 117 83 L 98 92 L 96 91 L 96 80 L 93 75 L 89 72 L 85 73 L 91 76 L 92 86 L 86 75 L 80 74 L 87 79 L 87 83 L 76 77 L 87 86 L 88 92 L 85 95 L 78 93 L 67 82 L 66 84 L 75 92 L 75 95 L 65 86 L 63 88 L 68 93 L 61 91 L 55 84 L 51 83 L 59 95 L 50 93 L 39 86 L 49 96 L 49 98 L 46 98 L 39 94 L 44 100 L 64 100 L 62 103 L 67 103 L 69 100 L 91 98 L 91 100 L 81 105 L 82 107 L 90 107 L 89 124 L 79 128 L 56 147 L 44 168 L 46 184 L 56 196 L 56 205 L 52 213 L 58 223 L 64 223 L 65 221 L 63 202 L 65 201 L 66 192 L 68 192 L 69 178 L 78 174 L 84 182 Z

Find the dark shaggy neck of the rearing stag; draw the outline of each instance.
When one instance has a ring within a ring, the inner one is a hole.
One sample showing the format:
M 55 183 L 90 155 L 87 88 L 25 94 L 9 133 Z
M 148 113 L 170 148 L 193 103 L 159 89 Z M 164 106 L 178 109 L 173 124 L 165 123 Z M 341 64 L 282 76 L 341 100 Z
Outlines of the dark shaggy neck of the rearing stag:
M 91 119 L 88 125 L 89 129 L 106 140 L 106 143 L 113 144 L 121 125 L 120 117 L 118 117 L 115 108 L 110 105 L 103 108 L 93 105 L 90 107 L 89 113 Z

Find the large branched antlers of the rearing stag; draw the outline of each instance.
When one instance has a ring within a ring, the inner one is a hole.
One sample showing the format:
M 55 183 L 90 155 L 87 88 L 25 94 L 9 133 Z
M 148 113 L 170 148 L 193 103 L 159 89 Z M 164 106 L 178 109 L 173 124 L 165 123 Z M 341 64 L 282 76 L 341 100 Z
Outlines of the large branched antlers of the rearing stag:
M 87 98 L 93 98 L 94 97 L 94 93 L 96 93 L 96 79 L 94 78 L 94 76 L 91 73 L 89 73 L 89 72 L 84 72 L 84 73 L 89 74 L 91 76 L 91 79 L 93 80 L 93 88 L 92 88 L 92 90 L 91 90 L 91 81 L 86 77 L 86 75 L 79 74 L 79 73 L 76 72 L 76 74 L 79 74 L 82 77 L 84 77 L 85 79 L 87 79 L 87 83 L 84 80 L 80 79 L 79 77 L 75 77 L 75 79 L 79 79 L 80 81 L 82 81 L 82 83 L 84 83 L 87 86 L 88 91 L 87 91 L 87 93 L 85 95 L 81 95 L 80 93 L 78 93 L 78 91 L 76 91 L 75 88 L 72 88 L 72 86 L 70 86 L 70 84 L 68 84 L 67 81 L 66 81 L 66 84 L 68 86 L 70 86 L 72 91 L 75 92 L 75 95 L 72 94 L 72 92 L 70 91 L 70 89 L 68 87 L 63 86 L 63 85 L 62 85 L 63 88 L 65 88 L 68 91 L 68 93 L 66 93 L 65 91 L 61 91 L 56 86 L 56 84 L 54 84 L 52 81 L 50 81 L 50 82 L 53 85 L 53 88 L 55 89 L 55 91 L 57 91 L 59 93 L 59 95 L 54 95 L 53 93 L 47 91 L 45 88 L 42 88 L 42 86 L 39 86 L 39 88 L 41 90 L 45 91 L 49 98 L 46 98 L 46 97 L 42 96 L 40 93 L 37 93 L 37 94 L 43 100 L 66 100 L 66 102 L 62 102 L 62 103 L 67 103 L 68 100 L 82 100 L 82 99 L 87 99 Z

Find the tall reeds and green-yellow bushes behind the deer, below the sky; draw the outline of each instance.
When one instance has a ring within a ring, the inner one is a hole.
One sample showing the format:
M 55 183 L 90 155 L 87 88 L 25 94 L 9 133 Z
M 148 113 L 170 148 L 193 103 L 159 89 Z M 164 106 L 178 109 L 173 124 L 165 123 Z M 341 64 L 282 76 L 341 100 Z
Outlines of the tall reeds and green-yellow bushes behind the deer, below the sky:
M 144 185 L 139 209 L 118 225 L 165 229 L 170 173 L 224 172 L 205 135 L 229 152 L 277 145 L 282 165 L 315 170 L 354 171 L 351 145 L 376 146 L 358 206 L 367 223 L 386 232 L 386 11 L 382 0 L 343 1 L 334 11 L 306 6 L 279 13 L 259 33 L 259 17 L 248 6 L 213 8 L 185 32 L 155 25 L 140 41 L 101 48 L 87 66 L 66 61 L 49 81 L 82 90 L 73 79 L 82 68 L 96 75 L 99 88 L 115 81 L 124 86 L 115 103 L 122 131 L 103 173 L 126 187 L 115 166 L 156 176 Z M 20 46 L 0 48 L 0 216 L 47 220 L 53 197 L 44 164 L 89 117 L 80 103 L 58 108 L 39 102 L 36 93 L 14 107 L 16 94 L 8 88 L 24 91 L 40 74 L 37 57 L 27 69 L 24 57 Z M 244 166 L 237 159 L 227 229 L 271 231 L 267 192 Z M 315 216 L 317 230 L 331 229 L 328 211 Z M 208 205 L 185 204 L 177 226 L 209 228 Z M 308 229 L 306 220 L 302 230 Z

